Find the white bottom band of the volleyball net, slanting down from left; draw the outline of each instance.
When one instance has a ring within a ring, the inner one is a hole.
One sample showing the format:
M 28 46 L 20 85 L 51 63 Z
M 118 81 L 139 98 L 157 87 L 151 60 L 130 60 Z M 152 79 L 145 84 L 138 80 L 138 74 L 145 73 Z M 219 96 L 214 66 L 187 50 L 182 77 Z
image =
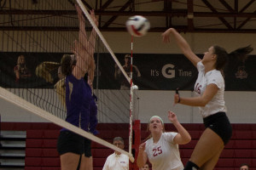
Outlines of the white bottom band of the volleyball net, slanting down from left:
M 32 105 L 31 103 L 27 102 L 25 99 L 21 99 L 20 97 L 16 96 L 15 94 L 12 94 L 11 92 L 9 92 L 8 90 L 6 90 L 2 87 L 0 87 L 0 97 L 2 99 L 9 101 L 12 104 L 18 105 L 21 108 L 26 109 L 27 111 L 31 111 L 33 114 L 35 114 L 37 116 L 43 117 L 44 119 L 48 120 L 49 122 L 53 122 L 56 125 L 59 125 L 60 127 L 65 127 L 68 130 L 72 131 L 73 133 L 78 133 L 79 135 L 83 136 L 84 138 L 93 140 L 96 143 L 102 144 L 112 150 L 119 151 L 120 153 L 125 154 L 126 156 L 129 156 L 130 161 L 134 162 L 134 157 L 130 153 L 126 152 L 125 150 L 121 150 L 117 146 L 110 144 L 107 141 L 100 139 L 91 133 L 88 133 L 79 127 L 73 126 L 73 124 L 70 124 L 70 123 L 62 120 L 61 118 L 54 116 L 47 111 L 44 111 L 43 109 L 39 108 L 36 105 Z

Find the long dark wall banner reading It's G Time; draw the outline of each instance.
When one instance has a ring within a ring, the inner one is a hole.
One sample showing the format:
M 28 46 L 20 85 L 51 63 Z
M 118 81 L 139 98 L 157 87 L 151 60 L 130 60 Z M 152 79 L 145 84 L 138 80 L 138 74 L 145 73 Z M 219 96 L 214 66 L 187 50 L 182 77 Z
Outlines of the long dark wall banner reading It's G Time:
M 60 53 L 0 53 L 1 79 L 4 88 L 53 88 L 59 80 Z M 21 57 L 23 56 L 23 57 Z M 130 76 L 131 66 L 125 65 L 131 57 L 116 54 Z M 125 89 L 125 80 L 109 54 L 96 54 L 94 88 Z M 132 77 L 140 90 L 193 90 L 197 77 L 194 65 L 183 54 L 133 54 Z M 20 64 L 21 63 L 21 64 Z M 42 64 L 48 65 L 49 75 L 38 74 Z M 256 57 L 249 56 L 245 63 L 230 60 L 225 69 L 225 89 L 230 91 L 256 90 Z M 20 75 L 17 74 L 20 71 Z

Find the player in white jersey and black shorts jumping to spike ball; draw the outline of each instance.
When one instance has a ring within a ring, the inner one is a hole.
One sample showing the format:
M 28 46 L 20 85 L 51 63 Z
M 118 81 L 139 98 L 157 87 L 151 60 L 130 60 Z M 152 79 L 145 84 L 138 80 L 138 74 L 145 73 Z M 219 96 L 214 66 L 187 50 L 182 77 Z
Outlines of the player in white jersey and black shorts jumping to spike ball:
M 204 53 L 203 59 L 196 56 L 188 42 L 173 28 L 162 34 L 163 41 L 169 42 L 172 34 L 183 54 L 192 62 L 199 72 L 195 82 L 196 97 L 181 98 L 175 94 L 174 103 L 190 106 L 199 106 L 206 130 L 195 145 L 184 170 L 206 169 L 211 170 L 216 165 L 224 145 L 232 136 L 232 127 L 226 116 L 224 105 L 224 65 L 228 58 L 244 60 L 253 48 L 247 46 L 238 48 L 228 54 L 224 48 L 212 46 Z

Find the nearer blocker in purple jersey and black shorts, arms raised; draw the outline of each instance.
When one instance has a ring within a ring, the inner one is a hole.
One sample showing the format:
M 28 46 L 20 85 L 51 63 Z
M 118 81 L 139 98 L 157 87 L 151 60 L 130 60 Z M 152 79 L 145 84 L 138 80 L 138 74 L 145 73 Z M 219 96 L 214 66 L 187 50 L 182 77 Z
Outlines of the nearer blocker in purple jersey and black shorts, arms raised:
M 65 54 L 61 59 L 61 73 L 65 76 L 65 95 L 62 96 L 66 97 L 66 121 L 88 131 L 92 92 L 90 85 L 84 81 L 84 75 L 88 73 L 90 82 L 93 82 L 95 71 L 93 54 L 96 33 L 92 30 L 90 38 L 87 38 L 82 10 L 77 5 L 76 8 L 79 14 L 79 41 L 74 42 L 73 54 Z M 90 11 L 90 16 L 97 24 L 94 11 Z M 79 165 L 80 156 L 84 155 L 84 150 L 90 150 L 90 142 L 84 141 L 84 137 L 79 134 L 62 128 L 57 150 L 61 156 L 61 169 L 76 169 Z M 84 163 L 86 164 L 83 158 L 84 156 L 81 158 L 80 169 L 87 168 L 83 166 Z

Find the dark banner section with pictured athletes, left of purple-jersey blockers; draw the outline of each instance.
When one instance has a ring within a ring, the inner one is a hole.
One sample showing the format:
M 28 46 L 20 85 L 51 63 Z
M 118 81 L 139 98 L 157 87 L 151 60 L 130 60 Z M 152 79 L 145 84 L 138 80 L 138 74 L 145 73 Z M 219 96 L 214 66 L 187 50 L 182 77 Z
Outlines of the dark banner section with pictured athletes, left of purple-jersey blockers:
M 3 88 L 53 88 L 57 82 L 58 67 L 63 54 L 46 53 L 0 53 L 1 79 Z M 40 65 L 49 74 L 39 71 Z

